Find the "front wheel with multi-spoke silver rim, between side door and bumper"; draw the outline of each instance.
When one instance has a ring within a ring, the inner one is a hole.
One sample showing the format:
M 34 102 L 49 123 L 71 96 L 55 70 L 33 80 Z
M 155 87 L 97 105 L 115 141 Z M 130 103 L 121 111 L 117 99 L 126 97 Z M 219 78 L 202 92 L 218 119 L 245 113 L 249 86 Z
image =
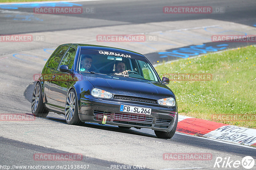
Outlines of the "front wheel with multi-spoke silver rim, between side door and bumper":
M 68 92 L 68 96 L 65 102 L 65 119 L 67 124 L 82 125 L 83 122 L 78 116 L 78 104 L 77 96 L 74 89 Z

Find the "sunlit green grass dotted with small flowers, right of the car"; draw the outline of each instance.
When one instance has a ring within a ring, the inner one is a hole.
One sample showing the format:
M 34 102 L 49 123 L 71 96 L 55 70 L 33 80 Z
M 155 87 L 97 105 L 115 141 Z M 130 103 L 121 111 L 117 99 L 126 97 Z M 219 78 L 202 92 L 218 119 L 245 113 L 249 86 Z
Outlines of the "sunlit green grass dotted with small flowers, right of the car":
M 211 81 L 170 81 L 181 115 L 256 128 L 256 46 L 156 67 L 160 77 L 170 73 L 210 73 Z M 218 118 L 216 118 L 218 116 Z

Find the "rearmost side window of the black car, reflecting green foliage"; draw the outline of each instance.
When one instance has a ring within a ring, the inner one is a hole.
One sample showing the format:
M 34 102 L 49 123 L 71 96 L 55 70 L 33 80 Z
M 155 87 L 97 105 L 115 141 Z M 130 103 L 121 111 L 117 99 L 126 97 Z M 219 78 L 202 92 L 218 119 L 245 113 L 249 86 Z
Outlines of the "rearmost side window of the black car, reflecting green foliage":
M 65 52 L 67 51 L 68 46 L 61 46 L 51 57 L 51 59 L 49 60 L 47 67 L 50 67 L 52 69 L 56 69 L 58 67 L 58 64 L 61 60 L 61 58 L 63 57 L 63 55 L 65 54 Z

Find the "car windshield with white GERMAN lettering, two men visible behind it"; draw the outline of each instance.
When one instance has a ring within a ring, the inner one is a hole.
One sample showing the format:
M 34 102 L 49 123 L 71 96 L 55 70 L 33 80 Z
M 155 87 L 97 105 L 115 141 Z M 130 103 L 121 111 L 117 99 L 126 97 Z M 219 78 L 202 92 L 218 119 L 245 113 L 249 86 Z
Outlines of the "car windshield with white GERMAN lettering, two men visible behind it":
M 137 55 L 100 50 L 81 50 L 77 67 L 79 72 L 159 82 L 154 68 L 144 57 Z

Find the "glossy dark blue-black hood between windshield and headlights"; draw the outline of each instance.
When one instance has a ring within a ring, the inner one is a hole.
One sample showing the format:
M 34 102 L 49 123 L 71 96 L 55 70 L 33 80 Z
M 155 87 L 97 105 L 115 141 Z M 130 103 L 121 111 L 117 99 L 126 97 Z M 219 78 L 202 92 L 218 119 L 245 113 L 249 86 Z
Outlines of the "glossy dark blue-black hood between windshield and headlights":
M 103 89 L 114 95 L 136 96 L 151 99 L 174 97 L 171 89 L 160 82 L 152 82 L 122 76 L 83 74 L 94 88 Z

